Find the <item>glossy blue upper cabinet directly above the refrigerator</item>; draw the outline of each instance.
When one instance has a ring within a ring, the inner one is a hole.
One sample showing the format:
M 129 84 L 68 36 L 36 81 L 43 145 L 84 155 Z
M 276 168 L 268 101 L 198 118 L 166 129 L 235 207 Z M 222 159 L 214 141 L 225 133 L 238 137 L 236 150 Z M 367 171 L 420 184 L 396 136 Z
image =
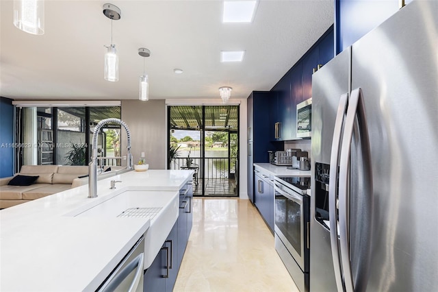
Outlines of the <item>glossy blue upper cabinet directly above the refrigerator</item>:
M 408 4 L 411 1 L 405 0 L 404 3 Z M 350 47 L 399 9 L 399 0 L 335 1 L 336 53 Z

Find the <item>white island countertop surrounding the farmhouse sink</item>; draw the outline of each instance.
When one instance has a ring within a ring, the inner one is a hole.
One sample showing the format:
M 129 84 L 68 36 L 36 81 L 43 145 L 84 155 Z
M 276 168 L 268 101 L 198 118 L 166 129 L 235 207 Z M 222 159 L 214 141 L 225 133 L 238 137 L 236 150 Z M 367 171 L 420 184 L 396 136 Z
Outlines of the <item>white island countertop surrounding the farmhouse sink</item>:
M 129 171 L 0 210 L 0 291 L 94 291 L 150 226 L 145 218 L 75 217 L 114 193 L 177 193 L 193 171 Z M 110 180 L 121 180 L 116 190 Z

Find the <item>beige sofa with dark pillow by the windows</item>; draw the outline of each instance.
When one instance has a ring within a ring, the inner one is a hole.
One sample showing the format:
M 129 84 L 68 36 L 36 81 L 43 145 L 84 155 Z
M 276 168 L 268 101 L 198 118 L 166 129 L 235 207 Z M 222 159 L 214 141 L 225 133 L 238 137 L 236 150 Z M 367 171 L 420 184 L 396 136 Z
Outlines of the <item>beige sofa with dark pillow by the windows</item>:
M 16 175 L 39 175 L 34 184 L 29 186 L 10 186 L 8 182 L 14 177 L 0 179 L 0 208 L 8 208 L 40 197 L 60 193 L 88 182 L 86 166 L 70 165 L 23 165 Z M 14 175 L 14 176 L 16 176 Z

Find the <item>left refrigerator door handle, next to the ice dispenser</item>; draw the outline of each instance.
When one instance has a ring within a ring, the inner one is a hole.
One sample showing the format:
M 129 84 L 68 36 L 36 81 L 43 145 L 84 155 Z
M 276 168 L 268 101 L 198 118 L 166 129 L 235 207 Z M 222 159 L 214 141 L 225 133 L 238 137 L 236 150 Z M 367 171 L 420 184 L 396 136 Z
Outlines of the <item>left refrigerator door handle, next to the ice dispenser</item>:
M 329 184 L 329 219 L 330 219 L 330 243 L 331 254 L 333 258 L 333 268 L 335 269 L 336 286 L 339 292 L 344 291 L 342 281 L 341 260 L 339 258 L 339 246 L 337 244 L 337 168 L 339 165 L 339 145 L 341 144 L 342 125 L 346 113 L 348 102 L 348 93 L 345 93 L 339 99 L 337 107 L 335 130 L 333 132 L 333 141 L 331 146 L 330 158 L 330 184 Z

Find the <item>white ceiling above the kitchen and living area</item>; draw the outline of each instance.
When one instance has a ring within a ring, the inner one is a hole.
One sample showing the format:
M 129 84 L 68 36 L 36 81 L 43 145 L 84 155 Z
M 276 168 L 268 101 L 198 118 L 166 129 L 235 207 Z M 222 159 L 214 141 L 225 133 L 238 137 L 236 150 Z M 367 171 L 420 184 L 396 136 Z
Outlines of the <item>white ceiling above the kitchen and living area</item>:
M 231 101 L 270 90 L 333 24 L 333 0 L 259 1 L 253 23 L 222 23 L 222 1 L 46 0 L 45 33 L 12 24 L 12 0 L 0 1 L 0 96 L 15 100 L 138 99 L 143 61 L 150 99 Z M 121 10 L 113 21 L 118 82 L 103 79 L 111 20 L 103 4 Z M 143 60 L 138 49 L 151 56 Z M 220 62 L 220 51 L 246 51 L 243 62 Z M 173 69 L 183 69 L 183 74 Z

